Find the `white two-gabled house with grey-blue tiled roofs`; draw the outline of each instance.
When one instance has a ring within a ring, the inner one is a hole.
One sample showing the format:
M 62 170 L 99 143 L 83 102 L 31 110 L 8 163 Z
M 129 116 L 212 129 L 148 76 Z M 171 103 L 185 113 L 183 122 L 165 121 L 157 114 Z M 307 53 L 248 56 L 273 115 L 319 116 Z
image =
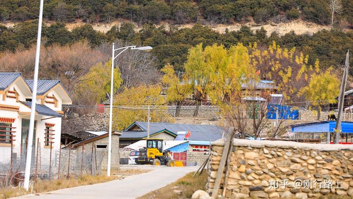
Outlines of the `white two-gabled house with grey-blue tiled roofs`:
M 23 161 L 29 131 L 33 80 L 18 72 L 0 72 L 0 162 L 12 154 Z M 38 80 L 33 148 L 60 147 L 62 105 L 72 99 L 59 80 Z M 13 140 L 11 141 L 11 136 Z M 12 144 L 11 144 L 12 142 Z M 12 146 L 12 147 L 11 147 Z M 34 152 L 34 150 L 33 150 Z

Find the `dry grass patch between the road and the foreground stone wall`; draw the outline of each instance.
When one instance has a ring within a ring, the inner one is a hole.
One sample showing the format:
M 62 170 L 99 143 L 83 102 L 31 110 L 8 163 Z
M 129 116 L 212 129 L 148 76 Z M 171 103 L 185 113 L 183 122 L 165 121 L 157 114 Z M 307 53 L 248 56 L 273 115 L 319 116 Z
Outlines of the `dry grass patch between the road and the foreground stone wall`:
M 193 176 L 195 172 L 186 174 L 165 187 L 151 191 L 138 199 L 190 199 L 192 194 L 197 190 L 206 190 L 207 172 Z M 177 187 L 175 189 L 172 189 Z M 181 190 L 181 195 L 177 195 L 173 190 Z

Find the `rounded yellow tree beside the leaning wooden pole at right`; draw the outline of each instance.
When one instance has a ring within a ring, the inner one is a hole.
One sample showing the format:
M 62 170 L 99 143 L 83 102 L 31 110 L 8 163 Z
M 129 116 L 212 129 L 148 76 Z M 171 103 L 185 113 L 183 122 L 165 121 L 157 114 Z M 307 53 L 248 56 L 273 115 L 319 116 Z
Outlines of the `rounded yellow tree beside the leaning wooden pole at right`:
M 333 68 L 328 68 L 325 72 L 314 74 L 309 84 L 299 92 L 312 106 L 317 107 L 318 120 L 320 120 L 321 106 L 337 103 L 339 80 L 332 70 Z

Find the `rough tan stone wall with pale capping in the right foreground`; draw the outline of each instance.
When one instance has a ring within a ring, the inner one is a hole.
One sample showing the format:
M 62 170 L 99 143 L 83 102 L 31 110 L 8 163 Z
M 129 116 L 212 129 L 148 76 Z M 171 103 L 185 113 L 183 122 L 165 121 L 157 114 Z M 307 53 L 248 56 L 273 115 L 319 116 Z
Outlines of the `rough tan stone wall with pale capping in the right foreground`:
M 223 141 L 212 143 L 206 185 L 209 193 L 223 147 Z M 353 146 L 234 139 L 226 198 L 353 196 L 352 175 Z M 219 194 L 223 187 L 224 180 Z

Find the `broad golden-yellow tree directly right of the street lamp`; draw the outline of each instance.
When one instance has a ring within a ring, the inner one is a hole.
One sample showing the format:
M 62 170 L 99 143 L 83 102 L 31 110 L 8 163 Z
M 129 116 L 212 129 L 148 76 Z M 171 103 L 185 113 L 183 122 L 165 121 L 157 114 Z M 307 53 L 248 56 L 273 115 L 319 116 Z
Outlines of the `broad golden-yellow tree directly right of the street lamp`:
M 161 93 L 161 86 L 140 85 L 138 87 L 125 88 L 114 96 L 114 106 L 122 106 L 113 110 L 113 129 L 124 130 L 134 121 L 147 121 L 147 106 L 151 106 L 151 122 L 173 122 L 167 114 L 165 100 Z M 141 109 L 145 106 L 146 109 Z M 153 110 L 153 106 L 158 106 Z

